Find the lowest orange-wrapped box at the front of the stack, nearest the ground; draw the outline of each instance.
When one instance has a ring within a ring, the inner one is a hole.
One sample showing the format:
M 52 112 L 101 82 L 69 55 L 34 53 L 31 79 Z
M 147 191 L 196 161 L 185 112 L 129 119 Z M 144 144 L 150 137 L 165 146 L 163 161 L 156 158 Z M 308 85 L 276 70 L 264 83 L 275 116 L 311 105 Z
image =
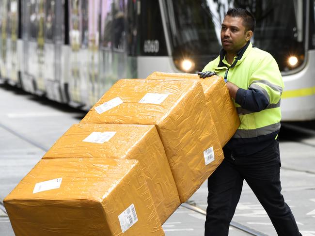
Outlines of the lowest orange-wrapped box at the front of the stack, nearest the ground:
M 42 159 L 3 202 L 16 236 L 164 236 L 137 160 Z

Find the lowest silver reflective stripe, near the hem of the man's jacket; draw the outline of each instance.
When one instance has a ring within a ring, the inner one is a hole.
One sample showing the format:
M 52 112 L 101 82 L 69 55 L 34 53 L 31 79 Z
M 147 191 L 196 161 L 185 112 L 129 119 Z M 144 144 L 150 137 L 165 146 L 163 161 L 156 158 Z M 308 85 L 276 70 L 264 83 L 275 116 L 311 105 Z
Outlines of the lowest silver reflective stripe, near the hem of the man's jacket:
M 257 129 L 237 129 L 233 138 L 255 138 L 261 135 L 271 134 L 280 129 L 280 122 Z

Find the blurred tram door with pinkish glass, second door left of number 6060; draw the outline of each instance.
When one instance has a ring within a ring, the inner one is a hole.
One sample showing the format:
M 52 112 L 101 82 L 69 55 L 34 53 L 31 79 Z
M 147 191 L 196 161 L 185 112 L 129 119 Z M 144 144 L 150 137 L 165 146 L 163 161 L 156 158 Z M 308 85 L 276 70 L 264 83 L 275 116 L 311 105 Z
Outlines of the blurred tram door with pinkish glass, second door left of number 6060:
M 69 95 L 72 105 L 94 105 L 97 86 L 99 0 L 70 0 L 70 75 Z M 92 104 L 93 103 L 93 104 Z

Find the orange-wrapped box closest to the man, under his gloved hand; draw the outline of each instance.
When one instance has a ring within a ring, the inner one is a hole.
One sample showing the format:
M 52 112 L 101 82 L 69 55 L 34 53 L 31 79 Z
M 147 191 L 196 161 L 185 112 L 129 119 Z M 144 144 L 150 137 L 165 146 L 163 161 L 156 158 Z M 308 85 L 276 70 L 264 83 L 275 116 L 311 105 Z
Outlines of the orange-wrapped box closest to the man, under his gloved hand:
M 220 76 L 200 79 L 197 74 L 153 72 L 147 79 L 185 80 L 199 79 L 204 89 L 206 105 L 215 123 L 221 146 L 235 134 L 240 125 L 239 117 L 229 90 Z

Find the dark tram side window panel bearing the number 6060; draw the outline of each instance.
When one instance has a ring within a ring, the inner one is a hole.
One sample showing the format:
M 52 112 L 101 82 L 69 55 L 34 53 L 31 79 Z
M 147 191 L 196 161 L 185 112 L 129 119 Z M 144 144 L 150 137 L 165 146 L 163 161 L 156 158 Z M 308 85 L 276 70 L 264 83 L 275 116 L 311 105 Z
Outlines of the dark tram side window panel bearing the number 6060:
M 141 55 L 167 55 L 158 0 L 141 1 L 140 34 Z

